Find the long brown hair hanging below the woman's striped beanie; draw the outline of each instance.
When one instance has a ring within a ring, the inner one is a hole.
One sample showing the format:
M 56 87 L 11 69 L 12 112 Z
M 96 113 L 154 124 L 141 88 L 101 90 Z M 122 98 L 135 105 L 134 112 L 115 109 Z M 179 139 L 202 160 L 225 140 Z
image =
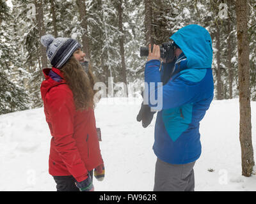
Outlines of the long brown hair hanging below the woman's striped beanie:
M 93 108 L 93 78 L 86 74 L 81 64 L 74 56 L 70 57 L 67 63 L 60 69 L 64 75 L 68 87 L 71 89 L 76 110 L 85 110 L 88 107 Z

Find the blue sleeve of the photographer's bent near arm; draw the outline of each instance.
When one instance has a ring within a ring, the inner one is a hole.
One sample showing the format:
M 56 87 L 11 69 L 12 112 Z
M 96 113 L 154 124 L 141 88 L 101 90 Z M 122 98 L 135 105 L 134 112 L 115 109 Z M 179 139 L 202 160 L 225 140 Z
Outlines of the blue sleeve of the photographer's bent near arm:
M 148 85 L 148 105 L 157 110 L 176 108 L 192 103 L 198 98 L 199 83 L 189 82 L 182 77 L 161 83 L 160 61 L 148 61 L 145 67 L 145 84 Z

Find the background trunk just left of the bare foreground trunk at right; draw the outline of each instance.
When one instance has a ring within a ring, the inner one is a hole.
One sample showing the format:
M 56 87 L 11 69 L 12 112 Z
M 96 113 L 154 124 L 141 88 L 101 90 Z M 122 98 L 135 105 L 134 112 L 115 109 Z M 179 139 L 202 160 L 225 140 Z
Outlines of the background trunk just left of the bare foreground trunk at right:
M 228 0 L 228 8 L 230 8 L 230 0 Z M 227 67 L 228 67 L 228 85 L 229 85 L 229 99 L 233 98 L 233 91 L 232 91 L 232 85 L 233 85 L 233 70 L 232 70 L 232 63 L 231 63 L 231 57 L 232 57 L 232 48 L 231 48 L 231 18 L 229 17 L 227 20 Z

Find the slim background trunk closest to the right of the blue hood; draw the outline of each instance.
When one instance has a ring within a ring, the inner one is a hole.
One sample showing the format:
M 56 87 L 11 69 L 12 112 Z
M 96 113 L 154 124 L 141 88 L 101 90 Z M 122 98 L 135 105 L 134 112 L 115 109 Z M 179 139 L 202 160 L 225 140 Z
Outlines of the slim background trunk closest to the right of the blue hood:
M 220 69 L 220 25 L 216 25 L 216 47 L 217 47 L 217 99 L 223 99 L 223 93 L 221 89 L 221 69 Z

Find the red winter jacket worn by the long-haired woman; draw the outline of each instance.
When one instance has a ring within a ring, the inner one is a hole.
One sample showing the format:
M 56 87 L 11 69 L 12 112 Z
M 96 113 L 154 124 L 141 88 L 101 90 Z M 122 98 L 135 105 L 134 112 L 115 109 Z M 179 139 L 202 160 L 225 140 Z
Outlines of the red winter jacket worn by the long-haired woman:
M 103 163 L 92 108 L 76 111 L 72 91 L 65 80 L 56 82 L 49 77 L 51 69 L 44 69 L 41 85 L 45 118 L 52 139 L 49 173 L 52 176 L 73 175 L 81 182 L 88 171 Z M 61 78 L 59 69 L 52 68 Z

